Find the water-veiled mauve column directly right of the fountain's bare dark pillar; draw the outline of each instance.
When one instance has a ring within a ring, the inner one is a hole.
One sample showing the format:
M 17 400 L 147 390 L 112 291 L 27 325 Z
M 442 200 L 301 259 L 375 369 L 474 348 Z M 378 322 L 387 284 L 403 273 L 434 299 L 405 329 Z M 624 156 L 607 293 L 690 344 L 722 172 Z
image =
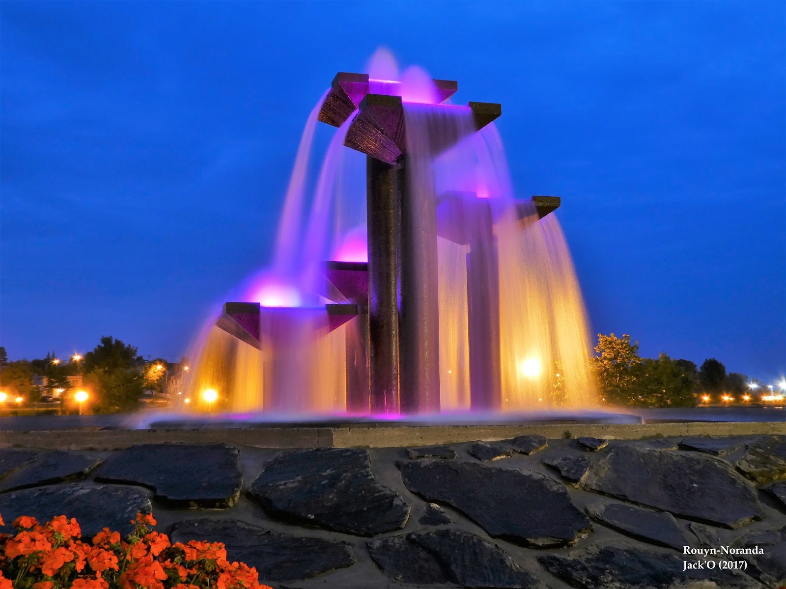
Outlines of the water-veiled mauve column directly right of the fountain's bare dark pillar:
M 407 158 L 396 172 L 399 203 L 401 412 L 439 413 L 439 273 L 436 198 L 413 199 Z M 417 200 L 417 202 L 415 202 Z

